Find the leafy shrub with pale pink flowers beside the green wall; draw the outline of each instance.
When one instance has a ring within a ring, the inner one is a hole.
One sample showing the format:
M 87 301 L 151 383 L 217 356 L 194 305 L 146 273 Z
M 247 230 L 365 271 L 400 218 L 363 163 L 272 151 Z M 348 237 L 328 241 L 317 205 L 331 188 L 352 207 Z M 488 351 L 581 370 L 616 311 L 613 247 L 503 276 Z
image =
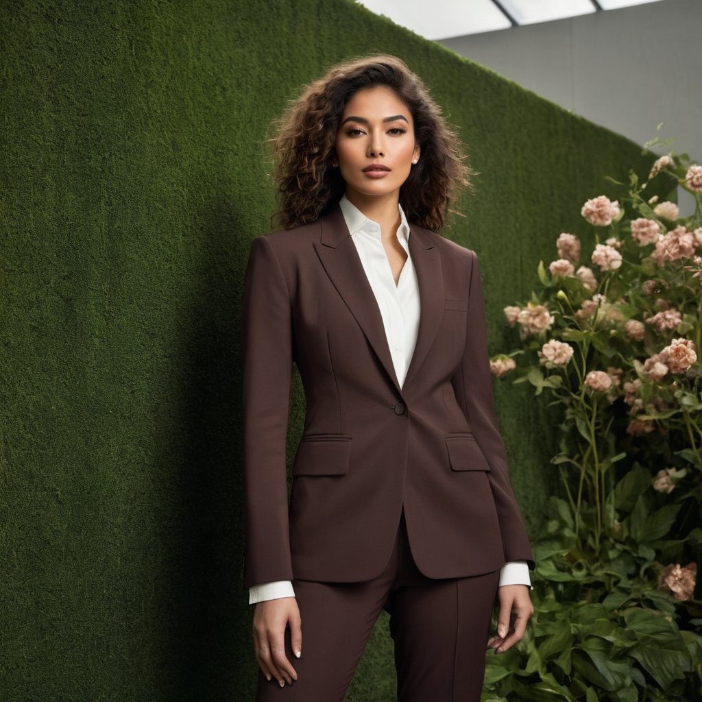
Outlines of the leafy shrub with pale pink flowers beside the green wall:
M 486 702 L 702 698 L 702 166 L 663 156 L 627 190 L 583 205 L 589 257 L 559 234 L 538 291 L 505 307 L 520 348 L 491 368 L 559 407 L 563 492 L 534 545 L 533 625 L 489 656 Z

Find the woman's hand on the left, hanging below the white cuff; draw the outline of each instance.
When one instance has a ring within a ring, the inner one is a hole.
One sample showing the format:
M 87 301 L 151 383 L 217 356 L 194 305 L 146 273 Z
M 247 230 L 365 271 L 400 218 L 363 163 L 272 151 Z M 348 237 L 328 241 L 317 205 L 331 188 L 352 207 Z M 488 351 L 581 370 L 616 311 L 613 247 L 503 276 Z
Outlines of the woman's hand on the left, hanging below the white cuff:
M 253 611 L 253 649 L 256 660 L 266 680 L 274 677 L 280 687 L 298 679 L 295 668 L 285 655 L 285 629 L 290 627 L 290 645 L 296 658 L 300 658 L 303 633 L 300 610 L 295 597 L 258 602 Z

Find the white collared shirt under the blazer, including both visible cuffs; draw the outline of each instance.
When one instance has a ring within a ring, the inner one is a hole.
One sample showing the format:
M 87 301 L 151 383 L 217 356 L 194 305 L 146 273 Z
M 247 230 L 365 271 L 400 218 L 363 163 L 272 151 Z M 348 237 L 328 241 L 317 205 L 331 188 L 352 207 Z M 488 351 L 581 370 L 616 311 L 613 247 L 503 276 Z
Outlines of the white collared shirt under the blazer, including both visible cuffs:
M 395 367 L 397 382 L 402 388 L 417 343 L 420 317 L 419 284 L 409 255 L 409 224 L 400 207 L 397 240 L 406 251 L 407 260 L 396 285 L 390 261 L 383 248 L 380 225 L 369 220 L 359 208 L 351 204 L 345 195 L 341 198 L 339 206 L 373 295 L 376 297 L 380 317 L 383 318 L 385 336 L 388 338 L 392 365 Z M 527 563 L 524 561 L 505 563 L 500 571 L 500 587 L 503 585 L 531 587 Z M 249 588 L 249 604 L 277 600 L 279 597 L 295 597 L 293 584 L 290 581 L 262 583 Z

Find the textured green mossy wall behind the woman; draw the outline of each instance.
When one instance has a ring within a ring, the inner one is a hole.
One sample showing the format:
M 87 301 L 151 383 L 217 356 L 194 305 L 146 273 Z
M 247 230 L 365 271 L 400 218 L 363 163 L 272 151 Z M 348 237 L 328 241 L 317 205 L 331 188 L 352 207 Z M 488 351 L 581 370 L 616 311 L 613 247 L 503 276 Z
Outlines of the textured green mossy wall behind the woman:
M 481 258 L 493 352 L 637 149 L 346 0 L 8 0 L 0 22 L 0 697 L 251 699 L 237 317 L 267 124 L 350 55 L 428 81 L 482 173 L 447 234 Z M 548 432 L 529 392 L 498 404 L 534 528 Z M 385 629 L 350 700 L 392 698 Z

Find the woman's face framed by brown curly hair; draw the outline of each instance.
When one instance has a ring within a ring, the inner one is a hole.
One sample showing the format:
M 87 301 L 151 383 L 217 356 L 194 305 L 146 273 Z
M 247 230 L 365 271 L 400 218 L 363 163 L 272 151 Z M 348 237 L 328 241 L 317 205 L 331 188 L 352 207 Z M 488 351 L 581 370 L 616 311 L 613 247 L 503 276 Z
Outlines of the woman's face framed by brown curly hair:
M 336 160 L 352 202 L 399 200 L 399 188 L 419 159 L 409 108 L 385 86 L 366 88 L 346 103 L 336 133 Z

